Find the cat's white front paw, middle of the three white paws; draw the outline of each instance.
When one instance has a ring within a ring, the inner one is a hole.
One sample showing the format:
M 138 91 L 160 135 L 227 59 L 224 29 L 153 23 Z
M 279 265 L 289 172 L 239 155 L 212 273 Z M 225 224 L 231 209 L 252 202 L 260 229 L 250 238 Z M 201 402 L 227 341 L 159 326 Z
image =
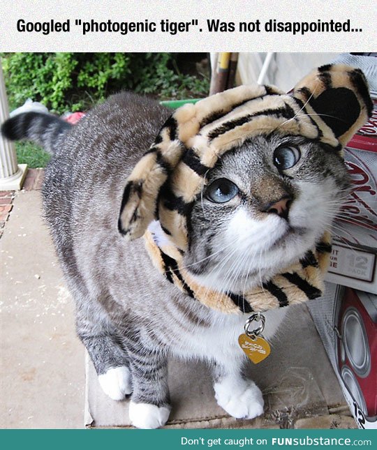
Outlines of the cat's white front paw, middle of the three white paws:
M 170 407 L 130 402 L 130 420 L 136 428 L 159 428 L 169 419 Z

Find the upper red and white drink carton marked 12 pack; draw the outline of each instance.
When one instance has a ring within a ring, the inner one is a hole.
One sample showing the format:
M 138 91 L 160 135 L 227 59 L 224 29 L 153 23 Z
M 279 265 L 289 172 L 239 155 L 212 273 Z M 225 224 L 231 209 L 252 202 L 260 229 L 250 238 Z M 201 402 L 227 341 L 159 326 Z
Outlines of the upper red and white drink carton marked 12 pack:
M 377 294 L 377 93 L 374 110 L 344 149 L 353 190 L 334 223 L 327 281 Z

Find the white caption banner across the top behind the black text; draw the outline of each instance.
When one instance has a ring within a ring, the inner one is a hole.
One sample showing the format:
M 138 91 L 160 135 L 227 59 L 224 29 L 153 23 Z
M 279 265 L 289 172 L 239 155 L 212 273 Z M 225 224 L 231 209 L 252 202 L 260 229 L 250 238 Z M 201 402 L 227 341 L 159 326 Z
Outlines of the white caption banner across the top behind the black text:
M 374 52 L 376 51 L 376 6 L 359 0 L 0 0 L 1 52 Z M 17 20 L 45 22 L 71 20 L 69 33 L 20 33 Z M 131 22 L 161 19 L 198 19 L 189 33 L 92 33 L 82 36 L 75 19 L 105 22 Z M 269 19 L 281 22 L 316 22 L 350 19 L 361 33 L 239 33 L 207 31 L 206 20 L 263 24 Z M 202 32 L 199 28 L 202 27 Z

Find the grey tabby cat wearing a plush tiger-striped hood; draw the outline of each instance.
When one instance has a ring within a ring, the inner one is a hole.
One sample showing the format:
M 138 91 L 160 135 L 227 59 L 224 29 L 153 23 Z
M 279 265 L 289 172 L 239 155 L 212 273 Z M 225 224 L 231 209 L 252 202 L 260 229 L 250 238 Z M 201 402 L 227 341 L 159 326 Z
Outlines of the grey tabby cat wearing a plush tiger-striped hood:
M 320 295 L 349 184 L 341 148 L 370 111 L 362 73 L 326 66 L 291 96 L 239 87 L 170 117 L 119 93 L 75 126 L 36 112 L 3 124 L 52 153 L 43 204 L 77 334 L 105 393 L 131 394 L 134 426 L 168 420 L 170 356 L 208 361 L 233 417 L 263 413 L 237 338 L 251 312 Z M 266 315 L 269 338 L 281 315 Z

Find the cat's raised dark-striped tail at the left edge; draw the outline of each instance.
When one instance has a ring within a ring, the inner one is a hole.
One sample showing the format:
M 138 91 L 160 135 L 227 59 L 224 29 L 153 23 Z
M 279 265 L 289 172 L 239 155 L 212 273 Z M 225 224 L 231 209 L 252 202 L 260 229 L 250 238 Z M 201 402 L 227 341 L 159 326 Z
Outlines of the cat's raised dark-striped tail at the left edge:
M 12 141 L 35 142 L 54 154 L 61 138 L 71 127 L 70 123 L 52 114 L 23 112 L 5 121 L 1 126 L 1 134 Z

